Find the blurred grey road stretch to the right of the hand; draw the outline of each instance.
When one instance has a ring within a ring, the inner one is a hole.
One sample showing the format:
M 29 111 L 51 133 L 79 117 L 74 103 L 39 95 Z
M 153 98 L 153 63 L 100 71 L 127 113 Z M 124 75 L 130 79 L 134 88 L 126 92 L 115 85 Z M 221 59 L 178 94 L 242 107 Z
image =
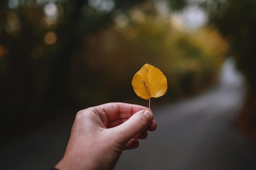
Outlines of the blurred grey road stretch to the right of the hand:
M 153 110 L 157 130 L 123 152 L 115 170 L 256 170 L 256 148 L 235 125 L 244 96 L 229 58 L 216 87 Z

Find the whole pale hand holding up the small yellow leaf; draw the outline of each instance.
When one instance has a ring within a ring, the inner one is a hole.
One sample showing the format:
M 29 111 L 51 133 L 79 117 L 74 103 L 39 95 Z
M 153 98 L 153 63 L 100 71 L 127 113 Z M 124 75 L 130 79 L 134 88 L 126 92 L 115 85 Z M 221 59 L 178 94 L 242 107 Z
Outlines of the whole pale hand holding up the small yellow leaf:
M 108 103 L 76 114 L 70 140 L 58 170 L 112 170 L 123 150 L 135 149 L 138 139 L 157 127 L 149 108 Z

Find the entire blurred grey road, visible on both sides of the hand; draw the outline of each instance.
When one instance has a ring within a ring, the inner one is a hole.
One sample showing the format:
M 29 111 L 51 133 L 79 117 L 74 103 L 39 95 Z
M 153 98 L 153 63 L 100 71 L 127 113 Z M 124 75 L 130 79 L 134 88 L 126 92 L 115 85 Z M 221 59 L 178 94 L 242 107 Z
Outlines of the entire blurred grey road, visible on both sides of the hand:
M 243 78 L 228 59 L 206 93 L 153 108 L 157 130 L 124 151 L 115 170 L 256 170 L 256 148 L 236 129 Z M 47 170 L 61 159 L 72 125 L 39 129 L 1 146 L 1 170 Z

